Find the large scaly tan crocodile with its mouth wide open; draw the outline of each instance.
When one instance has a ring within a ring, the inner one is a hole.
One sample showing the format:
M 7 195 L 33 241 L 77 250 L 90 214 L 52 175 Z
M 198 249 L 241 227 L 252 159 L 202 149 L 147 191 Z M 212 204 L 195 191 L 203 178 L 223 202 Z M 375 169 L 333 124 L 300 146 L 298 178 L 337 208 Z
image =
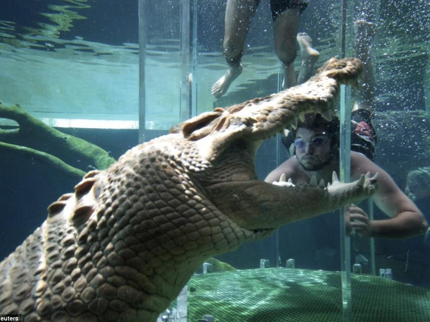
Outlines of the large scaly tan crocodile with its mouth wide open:
M 294 186 L 254 168 L 259 145 L 305 113 L 331 119 L 340 84 L 361 68 L 332 58 L 304 84 L 203 113 L 87 173 L 0 263 L 0 312 L 153 322 L 206 258 L 370 196 L 377 178 L 367 175 Z

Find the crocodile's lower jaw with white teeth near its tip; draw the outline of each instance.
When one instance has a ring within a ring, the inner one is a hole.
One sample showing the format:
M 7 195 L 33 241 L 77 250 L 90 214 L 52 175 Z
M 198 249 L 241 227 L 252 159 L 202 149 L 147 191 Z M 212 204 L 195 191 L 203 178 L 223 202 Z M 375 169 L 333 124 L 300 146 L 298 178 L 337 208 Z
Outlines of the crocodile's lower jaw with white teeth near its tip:
M 230 182 L 209 188 L 212 200 L 241 228 L 258 232 L 318 216 L 351 202 L 361 201 L 377 189 L 377 177 L 363 175 L 351 183 L 274 185 L 259 180 Z M 219 201 L 217 201 L 219 200 Z

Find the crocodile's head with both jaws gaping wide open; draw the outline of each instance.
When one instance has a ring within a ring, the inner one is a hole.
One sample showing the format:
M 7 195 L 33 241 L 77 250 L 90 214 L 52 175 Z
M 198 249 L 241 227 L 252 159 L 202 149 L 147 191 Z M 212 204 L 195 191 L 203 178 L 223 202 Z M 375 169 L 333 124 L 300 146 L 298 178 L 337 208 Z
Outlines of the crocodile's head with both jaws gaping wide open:
M 331 120 L 339 84 L 354 84 L 360 71 L 358 59 L 333 58 L 302 85 L 216 108 L 171 130 L 187 142 L 181 143 L 187 148 L 179 159 L 185 161 L 190 181 L 244 232 L 246 240 L 265 237 L 280 225 L 361 200 L 374 191 L 373 179 L 364 177 L 343 186 L 334 180 L 335 185 L 325 189 L 313 182 L 273 185 L 260 181 L 254 169 L 254 155 L 265 139 L 296 128 L 297 119 L 303 121 L 307 113 Z

